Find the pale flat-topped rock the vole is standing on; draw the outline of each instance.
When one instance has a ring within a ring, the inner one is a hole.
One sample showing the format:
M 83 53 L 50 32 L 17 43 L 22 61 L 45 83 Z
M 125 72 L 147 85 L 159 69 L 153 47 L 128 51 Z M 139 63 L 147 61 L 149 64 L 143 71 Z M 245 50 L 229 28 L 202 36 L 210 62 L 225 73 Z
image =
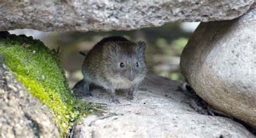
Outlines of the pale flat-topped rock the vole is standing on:
M 84 100 L 106 104 L 103 116 L 91 115 L 75 128 L 74 137 L 254 137 L 239 123 L 224 117 L 201 115 L 188 105 L 190 97 L 177 90 L 177 81 L 151 76 L 134 93 L 133 101 L 93 89 Z

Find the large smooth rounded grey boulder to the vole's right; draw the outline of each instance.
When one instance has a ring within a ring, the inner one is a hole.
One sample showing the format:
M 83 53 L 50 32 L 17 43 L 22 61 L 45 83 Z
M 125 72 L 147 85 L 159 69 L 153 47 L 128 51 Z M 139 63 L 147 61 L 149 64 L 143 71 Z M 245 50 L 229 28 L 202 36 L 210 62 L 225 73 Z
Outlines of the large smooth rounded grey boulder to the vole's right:
M 256 127 L 256 8 L 238 19 L 201 23 L 181 54 L 194 91 L 220 111 Z

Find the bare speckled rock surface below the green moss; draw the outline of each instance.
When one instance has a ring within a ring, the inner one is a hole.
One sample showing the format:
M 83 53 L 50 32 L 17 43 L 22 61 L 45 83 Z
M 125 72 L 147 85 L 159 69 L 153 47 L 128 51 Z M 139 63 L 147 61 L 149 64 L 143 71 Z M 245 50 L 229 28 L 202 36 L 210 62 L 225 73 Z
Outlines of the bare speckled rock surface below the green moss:
M 59 137 L 53 113 L 0 61 L 0 137 Z

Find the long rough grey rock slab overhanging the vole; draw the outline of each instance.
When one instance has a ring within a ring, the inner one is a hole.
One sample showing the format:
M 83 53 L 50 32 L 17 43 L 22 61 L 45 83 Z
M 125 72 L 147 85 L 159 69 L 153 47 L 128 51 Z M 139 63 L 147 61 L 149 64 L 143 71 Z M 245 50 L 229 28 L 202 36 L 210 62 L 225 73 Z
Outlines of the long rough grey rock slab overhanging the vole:
M 161 26 L 168 22 L 228 20 L 244 14 L 246 1 L 4 1 L 0 30 L 110 31 Z M 252 5 L 254 6 L 254 5 Z

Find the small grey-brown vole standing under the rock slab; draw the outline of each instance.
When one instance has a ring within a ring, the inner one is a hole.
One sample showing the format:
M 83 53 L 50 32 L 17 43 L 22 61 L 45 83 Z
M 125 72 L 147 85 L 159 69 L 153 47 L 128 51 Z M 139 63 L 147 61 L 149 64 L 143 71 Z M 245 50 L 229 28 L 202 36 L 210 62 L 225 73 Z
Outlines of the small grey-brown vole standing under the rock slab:
M 95 84 L 111 92 L 110 102 L 120 103 L 117 89 L 125 89 L 125 99 L 133 100 L 133 92 L 146 75 L 145 52 L 146 43 L 142 41 L 133 43 L 120 36 L 100 40 L 82 65 L 84 94 L 92 95 L 90 84 Z

